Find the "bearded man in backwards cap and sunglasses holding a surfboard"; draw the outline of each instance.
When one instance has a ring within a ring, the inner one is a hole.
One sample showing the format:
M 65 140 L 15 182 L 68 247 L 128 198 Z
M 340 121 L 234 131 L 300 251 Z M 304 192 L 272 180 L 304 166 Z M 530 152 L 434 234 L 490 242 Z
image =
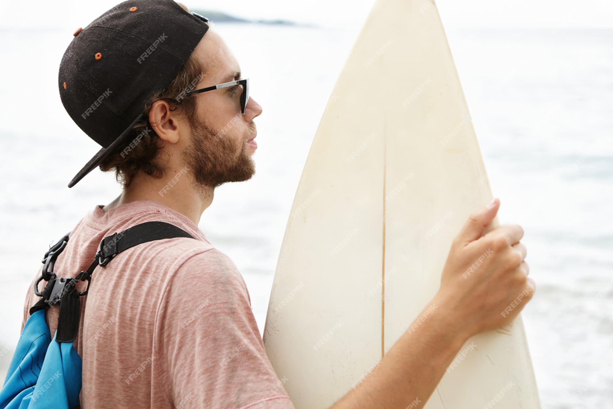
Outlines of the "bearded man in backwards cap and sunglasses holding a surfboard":
M 83 358 L 80 404 L 292 408 L 240 273 L 197 227 L 215 187 L 253 176 L 262 107 L 248 98 L 238 62 L 215 29 L 181 7 L 123 2 L 77 30 L 60 67 L 64 107 L 103 146 L 70 185 L 99 165 L 115 171 L 123 192 L 72 230 L 56 274 L 85 270 L 102 238 L 143 222 L 167 222 L 197 239 L 140 244 L 96 269 L 74 343 Z M 474 212 L 455 239 L 433 299 L 440 313 L 405 332 L 334 408 L 406 408 L 416 396 L 425 402 L 468 338 L 517 316 L 525 302 L 500 312 L 522 292 L 529 300 L 535 286 L 522 228 L 483 235 L 499 206 L 494 200 Z M 492 255 L 463 278 L 488 249 Z M 24 321 L 38 299 L 31 290 Z M 47 311 L 51 333 L 57 310 Z

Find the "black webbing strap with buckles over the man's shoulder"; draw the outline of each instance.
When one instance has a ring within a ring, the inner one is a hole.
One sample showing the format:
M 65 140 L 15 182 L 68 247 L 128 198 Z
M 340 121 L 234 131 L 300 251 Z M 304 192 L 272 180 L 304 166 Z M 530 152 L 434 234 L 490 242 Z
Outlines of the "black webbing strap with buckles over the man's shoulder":
M 34 312 L 32 311 L 34 308 L 38 310 L 45 308 L 46 305 L 43 306 L 42 303 L 48 305 L 57 305 L 57 303 L 59 303 L 58 333 L 56 334 L 55 340 L 58 342 L 74 341 L 78 334 L 80 315 L 79 297 L 88 293 L 89 285 L 91 284 L 91 275 L 96 267 L 99 265 L 105 267 L 110 260 L 120 254 L 120 252 L 138 246 L 139 244 L 177 237 L 194 238 L 188 232 L 185 232 L 185 230 L 165 222 L 145 222 L 130 227 L 123 232 L 105 237 L 100 242 L 94 262 L 91 263 L 89 268 L 81 271 L 72 279 L 56 278 L 53 279 L 53 281 L 49 281 L 42 294 L 44 298 L 30 309 L 30 314 Z M 55 257 L 57 257 L 57 254 L 58 252 L 56 252 Z M 39 281 L 40 279 L 37 281 L 37 284 Z M 78 281 L 88 282 L 85 291 L 77 291 L 75 285 Z M 50 286 L 52 282 L 53 284 Z M 36 290 L 37 288 L 38 287 L 36 287 Z

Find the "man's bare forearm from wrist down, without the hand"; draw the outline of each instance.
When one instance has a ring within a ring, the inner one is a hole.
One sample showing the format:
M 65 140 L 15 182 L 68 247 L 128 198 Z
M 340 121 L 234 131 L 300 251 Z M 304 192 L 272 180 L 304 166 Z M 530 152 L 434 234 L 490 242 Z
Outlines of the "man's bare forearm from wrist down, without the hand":
M 435 298 L 419 316 L 430 306 L 436 305 L 436 310 L 421 324 L 411 325 L 370 376 L 332 409 L 405 409 L 416 399 L 423 405 L 468 339 L 440 301 Z

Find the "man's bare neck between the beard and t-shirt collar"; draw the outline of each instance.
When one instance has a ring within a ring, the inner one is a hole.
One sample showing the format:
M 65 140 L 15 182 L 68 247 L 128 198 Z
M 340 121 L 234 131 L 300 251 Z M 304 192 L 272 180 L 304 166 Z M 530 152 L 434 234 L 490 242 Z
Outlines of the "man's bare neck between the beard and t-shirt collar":
M 198 225 L 205 209 L 213 202 L 213 187 L 201 187 L 191 173 L 182 169 L 166 169 L 161 179 L 145 173 L 137 174 L 121 195 L 104 206 L 104 211 L 137 200 L 154 200 L 180 212 Z

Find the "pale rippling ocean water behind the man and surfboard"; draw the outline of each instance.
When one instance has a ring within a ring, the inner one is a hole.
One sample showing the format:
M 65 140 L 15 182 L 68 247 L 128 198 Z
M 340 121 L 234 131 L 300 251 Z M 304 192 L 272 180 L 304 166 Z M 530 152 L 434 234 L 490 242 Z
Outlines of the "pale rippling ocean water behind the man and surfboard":
M 243 273 L 263 329 L 295 188 L 357 28 L 218 25 L 262 104 L 256 176 L 220 187 L 200 222 Z M 0 369 L 40 258 L 120 187 L 56 88 L 74 28 L 0 28 Z M 500 219 L 525 228 L 524 310 L 546 409 L 613 408 L 613 31 L 453 30 L 452 53 Z M 0 376 L 2 374 L 0 373 Z

